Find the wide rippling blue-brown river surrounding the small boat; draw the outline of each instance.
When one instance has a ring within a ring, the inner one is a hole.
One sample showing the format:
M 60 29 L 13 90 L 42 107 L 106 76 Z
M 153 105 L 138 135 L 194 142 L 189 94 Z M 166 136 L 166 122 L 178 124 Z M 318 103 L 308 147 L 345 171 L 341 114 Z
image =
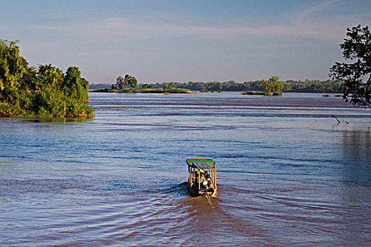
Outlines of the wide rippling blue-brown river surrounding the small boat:
M 370 109 L 89 96 L 93 119 L 0 119 L 0 246 L 371 245 Z M 216 198 L 187 193 L 190 157 L 218 162 Z

